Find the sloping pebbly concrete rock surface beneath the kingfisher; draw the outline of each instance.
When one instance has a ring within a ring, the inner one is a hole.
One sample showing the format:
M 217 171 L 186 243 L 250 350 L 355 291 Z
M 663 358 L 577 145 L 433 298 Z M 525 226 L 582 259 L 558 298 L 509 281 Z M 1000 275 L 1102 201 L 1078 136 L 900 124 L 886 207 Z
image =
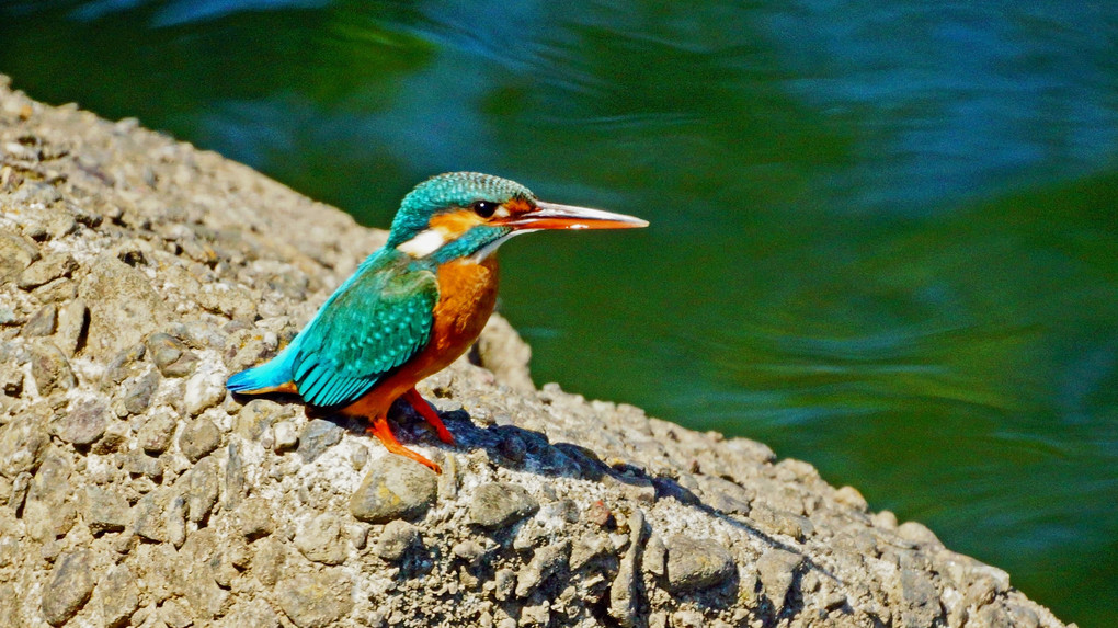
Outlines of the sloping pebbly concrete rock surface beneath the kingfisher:
M 7 85 L 0 624 L 1062 626 L 805 463 L 533 389 L 500 320 L 419 387 L 456 447 L 394 419 L 442 476 L 233 398 L 383 234 Z

